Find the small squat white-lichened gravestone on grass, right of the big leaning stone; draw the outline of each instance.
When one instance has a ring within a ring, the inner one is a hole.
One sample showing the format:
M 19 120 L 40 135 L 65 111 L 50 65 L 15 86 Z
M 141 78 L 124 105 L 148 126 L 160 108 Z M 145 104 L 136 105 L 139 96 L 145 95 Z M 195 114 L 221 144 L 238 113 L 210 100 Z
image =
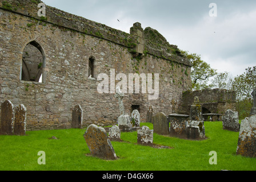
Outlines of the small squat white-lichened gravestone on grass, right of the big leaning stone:
M 142 129 L 137 132 L 137 143 L 143 146 L 153 145 L 153 130 L 147 126 L 142 126 Z

